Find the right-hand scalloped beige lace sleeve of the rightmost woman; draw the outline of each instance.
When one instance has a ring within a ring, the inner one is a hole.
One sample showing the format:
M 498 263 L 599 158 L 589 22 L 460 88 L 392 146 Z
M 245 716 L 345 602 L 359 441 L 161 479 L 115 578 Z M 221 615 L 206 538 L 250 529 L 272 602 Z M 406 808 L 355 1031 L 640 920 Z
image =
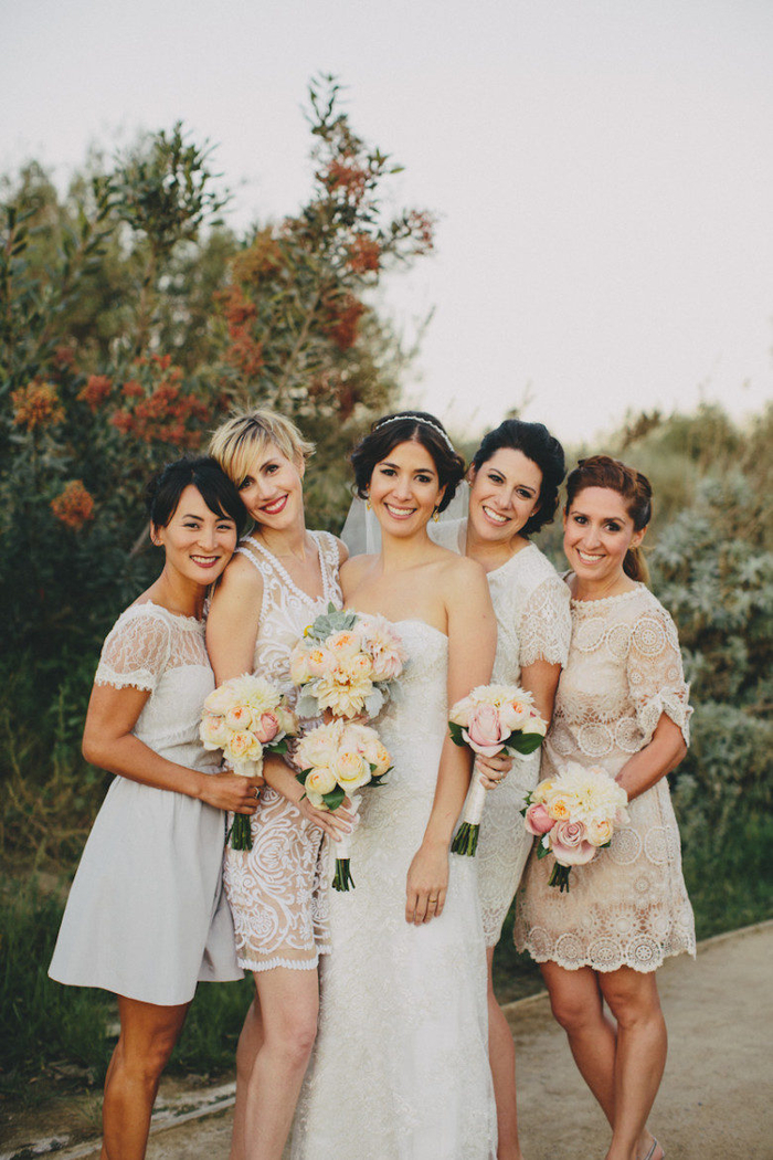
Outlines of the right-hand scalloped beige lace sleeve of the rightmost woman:
M 628 687 L 644 745 L 663 713 L 681 730 L 690 744 L 690 688 L 685 682 L 677 629 L 666 610 L 652 601 L 632 625 L 628 651 Z

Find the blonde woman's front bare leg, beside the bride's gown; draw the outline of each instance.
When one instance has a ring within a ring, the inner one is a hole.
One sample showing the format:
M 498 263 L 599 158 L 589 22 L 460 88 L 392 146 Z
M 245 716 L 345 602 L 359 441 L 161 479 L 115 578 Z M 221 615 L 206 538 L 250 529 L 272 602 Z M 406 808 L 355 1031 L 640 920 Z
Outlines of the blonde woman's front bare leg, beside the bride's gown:
M 280 1160 L 316 1037 L 316 971 L 277 966 L 255 974 L 263 1020 L 247 1087 L 246 1160 Z

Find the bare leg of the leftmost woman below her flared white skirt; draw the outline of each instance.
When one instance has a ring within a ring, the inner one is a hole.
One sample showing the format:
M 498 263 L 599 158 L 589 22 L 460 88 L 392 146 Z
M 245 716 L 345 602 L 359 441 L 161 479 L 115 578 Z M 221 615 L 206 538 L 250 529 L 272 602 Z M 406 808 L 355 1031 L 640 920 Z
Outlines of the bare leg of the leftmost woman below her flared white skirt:
M 121 1035 L 102 1105 L 102 1160 L 144 1160 L 161 1072 L 190 1003 L 159 1007 L 118 995 Z

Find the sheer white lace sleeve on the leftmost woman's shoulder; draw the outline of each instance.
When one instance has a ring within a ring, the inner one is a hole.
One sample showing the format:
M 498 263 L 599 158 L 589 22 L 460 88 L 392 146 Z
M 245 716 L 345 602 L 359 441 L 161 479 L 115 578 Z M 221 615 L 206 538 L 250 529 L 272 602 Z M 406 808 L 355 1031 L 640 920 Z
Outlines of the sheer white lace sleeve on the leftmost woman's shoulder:
M 148 604 L 126 609 L 102 646 L 94 683 L 153 693 L 169 661 L 170 636 L 168 623 Z

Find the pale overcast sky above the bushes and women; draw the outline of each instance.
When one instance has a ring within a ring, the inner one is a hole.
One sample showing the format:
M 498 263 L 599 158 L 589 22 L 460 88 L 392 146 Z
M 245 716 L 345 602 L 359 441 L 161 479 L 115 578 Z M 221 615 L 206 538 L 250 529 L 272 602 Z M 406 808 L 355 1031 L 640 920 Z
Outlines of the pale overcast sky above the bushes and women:
M 442 217 L 381 306 L 404 398 L 459 430 L 524 415 L 568 442 L 626 411 L 773 398 L 770 0 L 0 0 L 0 168 L 61 183 L 182 118 L 218 144 L 232 223 L 307 196 L 308 79 Z

